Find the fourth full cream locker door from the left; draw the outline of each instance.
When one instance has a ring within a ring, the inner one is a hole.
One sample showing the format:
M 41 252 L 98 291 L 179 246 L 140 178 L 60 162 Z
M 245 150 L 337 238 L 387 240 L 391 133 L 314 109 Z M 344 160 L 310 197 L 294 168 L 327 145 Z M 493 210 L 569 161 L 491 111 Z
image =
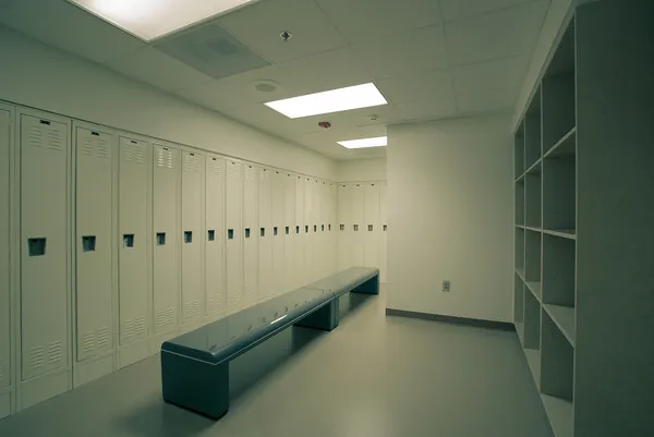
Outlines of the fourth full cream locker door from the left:
M 153 308 L 155 333 L 180 325 L 178 199 L 180 150 L 155 144 L 153 184 Z

